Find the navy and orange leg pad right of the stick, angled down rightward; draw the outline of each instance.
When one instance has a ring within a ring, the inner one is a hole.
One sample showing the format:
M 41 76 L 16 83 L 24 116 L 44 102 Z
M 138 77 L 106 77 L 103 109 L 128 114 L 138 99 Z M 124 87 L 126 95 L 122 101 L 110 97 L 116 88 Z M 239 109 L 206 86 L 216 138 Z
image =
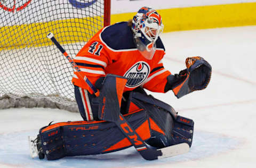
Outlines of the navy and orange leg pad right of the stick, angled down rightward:
M 151 138 L 146 142 L 154 147 L 163 148 L 193 140 L 193 120 L 177 115 L 172 106 L 148 96 L 146 93 L 131 93 L 131 104 L 144 108 L 149 114 Z

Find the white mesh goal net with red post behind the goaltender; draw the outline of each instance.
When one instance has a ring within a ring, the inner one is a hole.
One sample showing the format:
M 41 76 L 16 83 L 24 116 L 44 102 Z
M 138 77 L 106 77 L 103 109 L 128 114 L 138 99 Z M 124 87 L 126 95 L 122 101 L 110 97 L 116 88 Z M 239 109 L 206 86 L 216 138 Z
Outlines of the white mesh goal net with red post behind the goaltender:
M 46 35 L 74 57 L 110 24 L 110 0 L 0 0 L 0 16 L 0 108 L 76 107 L 73 69 Z

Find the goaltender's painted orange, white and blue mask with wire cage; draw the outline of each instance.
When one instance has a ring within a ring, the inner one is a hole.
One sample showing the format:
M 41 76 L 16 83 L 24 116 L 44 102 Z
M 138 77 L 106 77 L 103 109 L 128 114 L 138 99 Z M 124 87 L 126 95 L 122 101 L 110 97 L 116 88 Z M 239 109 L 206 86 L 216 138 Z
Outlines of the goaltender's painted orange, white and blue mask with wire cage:
M 134 41 L 140 53 L 151 60 L 156 51 L 156 40 L 163 31 L 161 15 L 150 7 L 141 7 L 132 20 Z

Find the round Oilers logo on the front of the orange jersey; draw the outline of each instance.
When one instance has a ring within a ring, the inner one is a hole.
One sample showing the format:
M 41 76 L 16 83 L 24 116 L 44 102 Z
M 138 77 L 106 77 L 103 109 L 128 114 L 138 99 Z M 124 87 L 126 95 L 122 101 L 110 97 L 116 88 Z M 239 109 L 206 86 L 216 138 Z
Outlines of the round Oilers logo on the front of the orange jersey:
M 132 67 L 125 72 L 124 77 L 127 79 L 126 87 L 134 88 L 139 86 L 148 78 L 150 68 L 148 63 L 140 61 L 132 65 Z

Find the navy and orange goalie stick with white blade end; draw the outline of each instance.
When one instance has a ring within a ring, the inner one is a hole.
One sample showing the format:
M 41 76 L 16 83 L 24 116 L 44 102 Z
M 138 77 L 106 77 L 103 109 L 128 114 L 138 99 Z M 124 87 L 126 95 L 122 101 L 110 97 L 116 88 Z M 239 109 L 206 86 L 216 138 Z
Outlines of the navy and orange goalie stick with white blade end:
M 65 57 L 71 63 L 73 69 L 77 72 L 78 78 L 81 81 L 84 81 L 84 83 L 86 83 L 86 85 L 88 85 L 91 88 L 91 90 L 89 90 L 90 93 L 95 94 L 95 95 L 99 95 L 99 91 L 94 88 L 94 86 L 92 85 L 90 80 L 87 79 L 86 76 L 83 78 L 82 75 L 79 74 L 81 72 L 81 70 L 78 68 L 78 66 L 76 65 L 74 60 L 67 54 L 65 49 L 54 38 L 53 33 L 50 32 L 47 35 L 47 38 L 51 39 L 52 42 L 58 47 L 60 52 L 63 55 L 65 55 Z M 119 112 L 115 112 L 115 113 L 119 113 Z M 108 116 L 111 116 L 111 115 L 105 115 L 101 119 L 106 120 L 106 121 L 110 121 L 110 122 L 114 122 L 117 125 L 117 127 L 124 133 L 124 135 L 127 137 L 127 139 L 129 139 L 131 144 L 135 147 L 135 149 L 137 149 L 137 151 L 140 153 L 140 155 L 143 158 L 145 158 L 147 160 L 154 160 L 154 159 L 158 159 L 158 158 L 165 158 L 165 157 L 171 157 L 171 156 L 184 154 L 184 153 L 187 153 L 189 151 L 189 145 L 186 144 L 186 143 L 181 143 L 181 144 L 178 144 L 178 145 L 173 145 L 173 146 L 169 146 L 169 147 L 165 147 L 165 148 L 161 148 L 161 149 L 149 148 L 146 145 L 145 141 L 143 141 L 141 139 L 141 137 L 138 135 L 138 133 L 126 121 L 126 119 L 123 117 L 123 115 L 121 113 L 119 113 L 117 115 L 119 117 L 117 117 L 116 119 L 114 119 L 112 117 L 108 117 Z

